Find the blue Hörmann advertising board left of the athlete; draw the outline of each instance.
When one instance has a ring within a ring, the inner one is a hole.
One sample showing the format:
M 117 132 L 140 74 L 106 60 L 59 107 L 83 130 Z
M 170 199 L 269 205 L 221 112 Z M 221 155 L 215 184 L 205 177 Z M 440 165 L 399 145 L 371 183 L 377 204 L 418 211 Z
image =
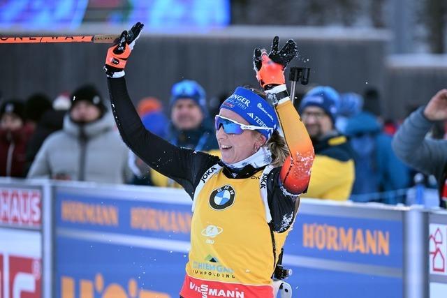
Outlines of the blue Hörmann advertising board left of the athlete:
M 55 188 L 54 297 L 178 297 L 191 198 L 141 189 Z

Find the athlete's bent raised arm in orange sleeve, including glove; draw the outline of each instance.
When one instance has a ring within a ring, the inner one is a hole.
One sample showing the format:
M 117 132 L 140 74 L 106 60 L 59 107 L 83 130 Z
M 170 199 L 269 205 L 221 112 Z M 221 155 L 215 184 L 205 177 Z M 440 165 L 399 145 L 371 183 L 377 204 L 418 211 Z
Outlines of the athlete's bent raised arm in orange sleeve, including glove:
M 290 153 L 281 167 L 281 184 L 289 193 L 300 194 L 309 185 L 314 147 L 286 89 L 284 68 L 298 52 L 296 43 L 288 40 L 281 50 L 278 43 L 279 38 L 275 36 L 269 54 L 255 49 L 254 69 L 259 83 L 272 100 Z

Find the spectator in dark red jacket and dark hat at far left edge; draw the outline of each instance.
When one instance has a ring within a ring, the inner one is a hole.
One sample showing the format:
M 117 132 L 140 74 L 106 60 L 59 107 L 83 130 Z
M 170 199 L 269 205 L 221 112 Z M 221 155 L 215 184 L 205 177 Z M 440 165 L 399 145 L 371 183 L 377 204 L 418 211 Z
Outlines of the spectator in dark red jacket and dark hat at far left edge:
M 24 104 L 7 100 L 0 107 L 0 176 L 24 177 L 25 149 L 32 133 L 24 125 Z

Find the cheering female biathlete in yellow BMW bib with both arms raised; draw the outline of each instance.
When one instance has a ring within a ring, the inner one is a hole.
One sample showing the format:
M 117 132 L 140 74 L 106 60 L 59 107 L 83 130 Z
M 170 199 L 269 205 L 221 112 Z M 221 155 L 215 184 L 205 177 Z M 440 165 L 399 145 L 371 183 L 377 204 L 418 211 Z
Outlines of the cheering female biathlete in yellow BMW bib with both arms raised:
M 142 125 L 124 79 L 142 26 L 137 23 L 122 33 L 109 48 L 104 68 L 124 142 L 193 200 L 191 250 L 180 297 L 274 297 L 272 274 L 314 160 L 284 79 L 296 44 L 288 40 L 278 50 L 275 37 L 269 54 L 255 50 L 256 77 L 273 107 L 260 91 L 237 87 L 215 118 L 219 159 L 175 147 Z

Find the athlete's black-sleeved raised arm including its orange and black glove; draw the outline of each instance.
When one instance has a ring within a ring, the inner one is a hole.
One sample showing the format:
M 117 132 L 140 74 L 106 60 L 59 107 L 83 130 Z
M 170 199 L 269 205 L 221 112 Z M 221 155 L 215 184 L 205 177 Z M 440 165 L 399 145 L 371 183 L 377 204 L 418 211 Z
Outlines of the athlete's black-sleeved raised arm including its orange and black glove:
M 124 66 L 142 24 L 124 31 L 119 43 L 109 48 L 105 61 L 112 112 L 123 141 L 152 169 L 177 181 L 189 195 L 193 194 L 196 180 L 219 158 L 202 152 L 175 147 L 161 137 L 147 131 L 129 97 L 124 79 Z

